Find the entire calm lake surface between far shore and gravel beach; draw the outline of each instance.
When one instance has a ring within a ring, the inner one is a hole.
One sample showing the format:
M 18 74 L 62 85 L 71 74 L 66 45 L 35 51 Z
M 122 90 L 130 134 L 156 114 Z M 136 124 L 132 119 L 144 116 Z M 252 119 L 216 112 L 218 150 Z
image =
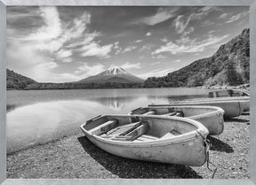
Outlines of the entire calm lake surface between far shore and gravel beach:
M 76 89 L 7 91 L 7 153 L 81 132 L 100 114 L 127 114 L 148 104 L 203 97 L 206 89 Z

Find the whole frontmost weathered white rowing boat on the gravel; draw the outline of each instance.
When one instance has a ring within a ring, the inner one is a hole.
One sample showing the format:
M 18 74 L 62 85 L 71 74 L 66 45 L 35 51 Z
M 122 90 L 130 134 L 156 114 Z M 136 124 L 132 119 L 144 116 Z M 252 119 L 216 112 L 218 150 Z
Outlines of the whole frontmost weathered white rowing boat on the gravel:
M 116 156 L 202 166 L 209 145 L 206 127 L 194 119 L 143 115 L 106 115 L 81 126 L 87 138 Z

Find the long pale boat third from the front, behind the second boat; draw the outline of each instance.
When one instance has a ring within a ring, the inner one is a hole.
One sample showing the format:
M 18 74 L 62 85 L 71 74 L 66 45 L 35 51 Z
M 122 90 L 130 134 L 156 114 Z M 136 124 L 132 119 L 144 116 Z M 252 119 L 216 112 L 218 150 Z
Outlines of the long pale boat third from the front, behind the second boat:
M 249 107 L 249 99 L 240 98 L 234 99 L 229 97 L 224 98 L 204 98 L 204 99 L 192 99 L 186 101 L 177 101 L 170 104 L 149 104 L 149 106 L 217 106 L 224 110 L 225 118 L 232 118 L 240 116 L 246 108 Z

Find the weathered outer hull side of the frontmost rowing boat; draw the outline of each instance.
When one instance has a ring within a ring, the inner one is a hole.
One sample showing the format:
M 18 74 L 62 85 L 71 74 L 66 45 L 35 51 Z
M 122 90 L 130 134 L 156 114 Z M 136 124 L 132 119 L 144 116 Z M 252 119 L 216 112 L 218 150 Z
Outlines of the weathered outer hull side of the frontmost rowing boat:
M 204 140 L 201 136 L 180 143 L 130 147 L 101 142 L 92 135 L 86 136 L 101 150 L 122 158 L 188 166 L 203 166 L 206 161 L 206 148 L 204 147 Z

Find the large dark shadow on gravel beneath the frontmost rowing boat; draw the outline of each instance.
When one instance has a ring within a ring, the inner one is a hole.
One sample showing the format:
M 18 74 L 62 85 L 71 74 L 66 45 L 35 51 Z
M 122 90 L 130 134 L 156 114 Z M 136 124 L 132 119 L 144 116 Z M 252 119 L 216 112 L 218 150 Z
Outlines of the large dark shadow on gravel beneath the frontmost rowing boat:
M 140 178 L 195 178 L 201 179 L 189 166 L 162 164 L 120 158 L 109 154 L 96 147 L 85 136 L 77 138 L 84 150 L 100 165 L 104 166 L 109 172 L 116 174 L 120 178 L 140 179 Z

